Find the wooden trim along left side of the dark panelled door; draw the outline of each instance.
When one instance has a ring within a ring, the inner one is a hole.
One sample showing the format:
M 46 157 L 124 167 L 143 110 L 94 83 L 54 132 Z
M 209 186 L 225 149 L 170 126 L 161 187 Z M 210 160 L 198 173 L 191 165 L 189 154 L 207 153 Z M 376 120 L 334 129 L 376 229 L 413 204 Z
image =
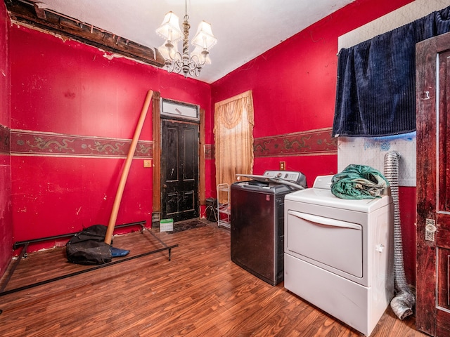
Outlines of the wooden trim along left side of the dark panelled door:
M 153 214 L 161 213 L 161 115 L 159 92 L 153 93 L 152 134 L 153 134 Z M 152 217 L 153 218 L 153 217 Z

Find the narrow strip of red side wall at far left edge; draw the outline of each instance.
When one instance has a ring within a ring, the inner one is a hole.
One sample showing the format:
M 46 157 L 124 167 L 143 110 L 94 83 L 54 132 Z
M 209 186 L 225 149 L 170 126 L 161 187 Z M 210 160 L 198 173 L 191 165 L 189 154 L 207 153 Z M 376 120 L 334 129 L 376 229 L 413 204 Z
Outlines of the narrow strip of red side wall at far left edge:
M 8 59 L 9 20 L 6 7 L 0 4 L 0 277 L 12 256 L 13 222 L 11 220 L 11 162 L 8 149 L 9 138 L 9 91 L 10 74 Z

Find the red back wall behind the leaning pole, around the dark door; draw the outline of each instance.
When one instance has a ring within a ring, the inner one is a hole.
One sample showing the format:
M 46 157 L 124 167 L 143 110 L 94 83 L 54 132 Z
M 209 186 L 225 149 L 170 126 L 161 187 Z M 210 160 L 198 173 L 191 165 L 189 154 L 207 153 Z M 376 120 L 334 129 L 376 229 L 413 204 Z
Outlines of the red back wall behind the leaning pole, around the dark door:
M 11 128 L 18 133 L 56 133 L 61 138 L 58 144 L 69 147 L 69 136 L 129 140 L 149 89 L 163 98 L 198 104 L 211 114 L 210 86 L 203 82 L 125 58 L 105 58 L 96 48 L 25 27 L 13 25 L 10 36 Z M 140 140 L 152 140 L 152 113 L 150 107 Z M 207 119 L 209 142 L 211 128 Z M 14 148 L 20 141 L 25 143 L 20 135 L 13 140 L 17 140 Z M 41 156 L 38 145 L 48 145 L 51 151 L 55 144 L 38 140 L 32 139 L 31 155 L 11 156 L 14 241 L 107 225 L 123 156 L 77 157 L 54 148 L 54 155 Z M 151 224 L 152 176 L 153 169 L 134 159 L 117 224 L 141 220 Z

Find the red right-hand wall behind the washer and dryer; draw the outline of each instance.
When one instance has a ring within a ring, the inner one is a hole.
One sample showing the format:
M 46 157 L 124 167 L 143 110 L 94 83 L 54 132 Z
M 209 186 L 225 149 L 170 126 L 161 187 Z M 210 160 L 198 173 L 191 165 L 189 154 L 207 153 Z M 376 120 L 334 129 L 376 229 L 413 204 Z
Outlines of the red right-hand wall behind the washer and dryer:
M 330 128 L 338 37 L 410 2 L 356 0 L 214 82 L 212 107 L 252 90 L 255 138 Z M 288 170 L 302 171 L 309 186 L 316 176 L 337 173 L 337 154 L 259 157 L 255 158 L 254 173 L 278 169 L 279 161 L 285 161 Z M 406 277 L 414 283 L 416 189 L 401 187 L 400 194 Z

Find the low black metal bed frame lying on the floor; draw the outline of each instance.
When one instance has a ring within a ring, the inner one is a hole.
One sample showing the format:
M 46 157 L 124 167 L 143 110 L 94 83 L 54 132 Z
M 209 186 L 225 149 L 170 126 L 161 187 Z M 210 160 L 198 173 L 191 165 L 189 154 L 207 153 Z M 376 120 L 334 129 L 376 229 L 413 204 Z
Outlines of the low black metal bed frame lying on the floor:
M 88 268 L 88 269 L 85 269 L 85 270 L 79 270 L 77 272 L 71 272 L 71 273 L 66 274 L 66 275 L 53 277 L 52 279 L 46 279 L 45 281 L 36 282 L 36 283 L 33 283 L 33 284 L 27 284 L 26 286 L 20 286 L 20 287 L 15 288 L 15 289 L 4 291 L 4 289 L 8 285 L 9 280 L 13 276 L 13 272 L 15 271 L 15 268 L 20 263 L 20 260 L 22 260 L 22 258 L 27 256 L 27 248 L 28 248 L 29 244 L 36 243 L 36 242 L 50 241 L 50 240 L 53 240 L 53 239 L 62 239 L 62 238 L 66 238 L 66 237 L 73 237 L 77 233 L 62 234 L 62 235 L 57 235 L 57 236 L 54 236 L 54 237 L 43 237 L 41 239 L 32 239 L 32 240 L 28 240 L 28 241 L 15 242 L 15 244 L 13 244 L 13 249 L 18 249 L 18 248 L 22 247 L 22 250 L 20 251 L 20 255 L 18 256 L 18 259 L 15 261 L 14 265 L 11 266 L 11 269 L 9 270 L 8 275 L 6 275 L 6 279 L 4 280 L 3 284 L 1 284 L 1 286 L 0 286 L 0 297 L 8 295 L 10 293 L 16 293 L 18 291 L 23 291 L 23 290 L 26 290 L 26 289 L 34 288 L 35 286 L 41 286 L 43 284 L 49 284 L 51 282 L 55 282 L 55 281 L 58 281 L 60 279 L 67 279 L 68 277 L 84 274 L 85 272 L 91 272 L 93 270 L 98 270 L 98 269 L 101 269 L 103 267 L 109 267 L 110 265 L 117 265 L 117 263 L 127 262 L 129 260 L 134 260 L 136 258 L 141 258 L 143 256 L 148 256 L 148 255 L 151 255 L 151 254 L 154 254 L 154 253 L 159 253 L 160 251 L 169 251 L 169 260 L 171 260 L 171 258 L 172 258 L 172 249 L 175 248 L 175 247 L 178 247 L 178 244 L 174 244 L 172 246 L 167 246 L 167 244 L 165 244 L 165 242 L 163 242 L 153 232 L 148 230 L 145 227 L 145 224 L 146 224 L 146 221 L 141 221 L 141 222 L 138 222 L 138 223 L 127 223 L 127 224 L 124 224 L 124 225 L 117 225 L 117 226 L 115 226 L 115 228 L 123 228 L 123 227 L 130 227 L 130 226 L 134 226 L 134 225 L 141 225 L 141 233 L 144 230 L 147 230 L 150 234 L 152 234 L 152 236 L 155 239 L 158 240 L 158 242 L 160 242 L 160 244 L 162 244 L 162 246 L 164 246 L 163 248 L 156 249 L 154 251 L 148 251 L 146 253 L 141 253 L 139 255 L 131 256 L 129 258 L 121 258 L 120 260 L 109 262 L 109 263 L 105 263 L 103 265 L 96 265 L 95 267 L 91 267 L 91 268 Z M 1 310 L 0 310 L 0 314 L 1 314 Z

